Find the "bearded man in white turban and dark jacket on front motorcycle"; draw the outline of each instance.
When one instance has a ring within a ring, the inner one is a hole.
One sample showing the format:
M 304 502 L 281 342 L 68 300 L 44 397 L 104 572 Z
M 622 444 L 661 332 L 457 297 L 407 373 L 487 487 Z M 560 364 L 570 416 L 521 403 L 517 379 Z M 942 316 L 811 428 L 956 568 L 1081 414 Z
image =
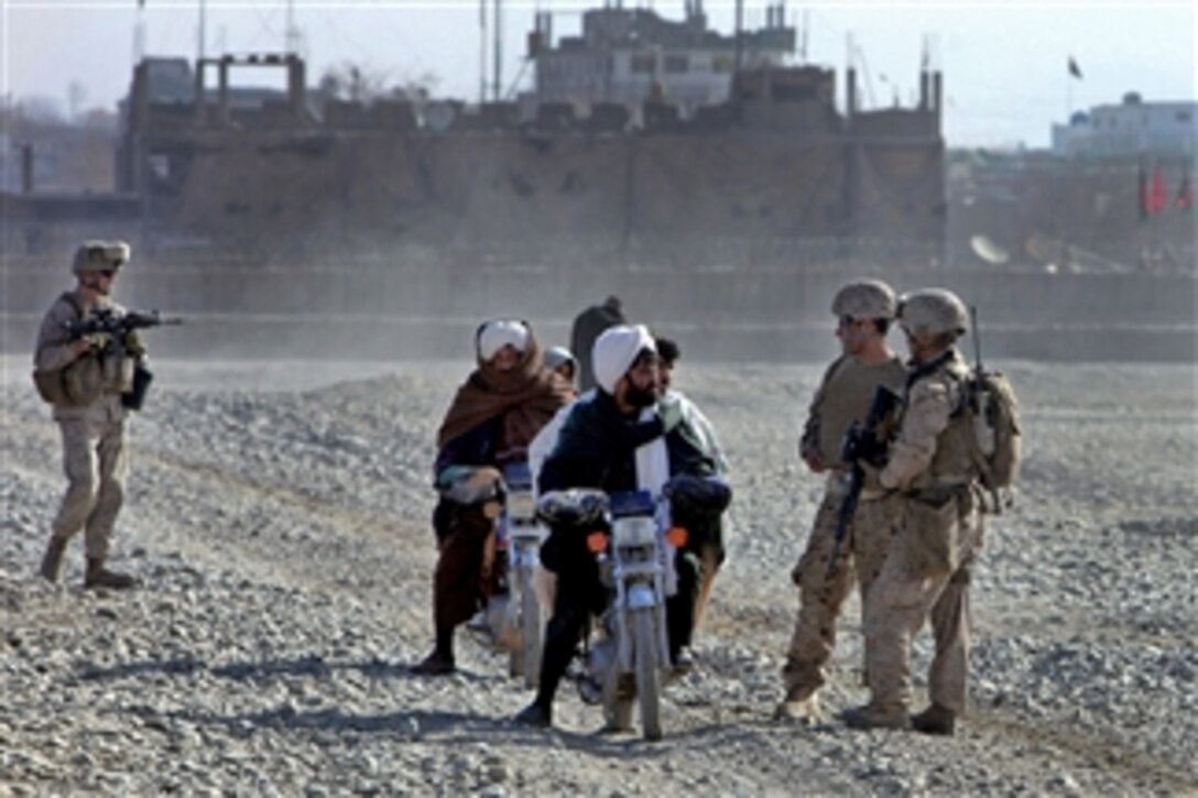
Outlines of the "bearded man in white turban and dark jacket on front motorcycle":
M 662 418 L 649 410 L 658 401 L 658 355 L 653 337 L 643 326 L 617 326 L 594 345 L 598 389 L 575 403 L 562 427 L 552 453 L 539 477 L 541 495 L 569 488 L 597 488 L 606 492 L 651 489 L 647 474 L 637 470 L 636 451 L 664 436 L 668 474 L 714 476 L 715 463 L 680 415 Z M 646 412 L 648 411 L 648 412 Z M 555 572 L 557 597 L 546 629 L 537 697 L 516 720 L 534 726 L 552 721 L 553 695 L 588 628 L 589 618 L 603 611 L 607 594 L 599 581 L 594 555 L 587 550 L 586 532 L 557 527 L 541 549 L 541 562 Z M 666 625 L 671 660 L 689 645 L 697 593 L 694 563 L 678 556 L 678 592 L 667 600 Z

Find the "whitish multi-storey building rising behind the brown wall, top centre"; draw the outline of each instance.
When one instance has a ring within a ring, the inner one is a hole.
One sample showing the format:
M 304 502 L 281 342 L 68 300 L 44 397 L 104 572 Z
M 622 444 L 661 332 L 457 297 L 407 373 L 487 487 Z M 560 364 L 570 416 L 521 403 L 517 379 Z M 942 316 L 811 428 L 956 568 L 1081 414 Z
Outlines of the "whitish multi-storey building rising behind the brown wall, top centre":
M 780 4 L 767 8 L 766 28 L 724 36 L 708 30 L 702 0 L 688 0 L 685 19 L 670 22 L 652 8 L 621 2 L 582 14 L 582 35 L 552 44 L 547 14 L 530 36 L 537 87 L 525 101 L 579 105 L 619 103 L 639 117 L 647 99 L 677 105 L 689 117 L 698 105 L 728 98 L 732 73 L 782 66 L 794 52 L 795 31 Z

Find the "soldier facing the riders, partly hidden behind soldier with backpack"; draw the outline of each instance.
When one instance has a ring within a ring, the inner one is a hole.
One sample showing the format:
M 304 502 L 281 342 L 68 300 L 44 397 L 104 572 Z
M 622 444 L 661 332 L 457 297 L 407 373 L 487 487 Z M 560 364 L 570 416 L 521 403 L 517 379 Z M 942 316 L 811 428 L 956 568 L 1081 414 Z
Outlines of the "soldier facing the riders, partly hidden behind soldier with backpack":
M 818 690 L 836 645 L 836 618 L 853 590 L 854 576 L 864 597 L 882 569 L 894 531 L 895 502 L 883 491 L 863 490 L 857 512 L 836 552 L 836 522 L 848 491 L 848 465 L 841 461 L 841 441 L 849 424 L 863 421 L 879 385 L 895 391 L 907 369 L 887 346 L 885 333 L 895 314 L 895 295 L 878 280 L 849 283 L 833 301 L 836 337 L 845 353 L 828 368 L 811 401 L 799 453 L 816 473 L 828 474 L 823 502 L 801 558 L 791 573 L 799 587 L 799 615 L 782 669 L 786 699 L 775 715 L 815 723 Z

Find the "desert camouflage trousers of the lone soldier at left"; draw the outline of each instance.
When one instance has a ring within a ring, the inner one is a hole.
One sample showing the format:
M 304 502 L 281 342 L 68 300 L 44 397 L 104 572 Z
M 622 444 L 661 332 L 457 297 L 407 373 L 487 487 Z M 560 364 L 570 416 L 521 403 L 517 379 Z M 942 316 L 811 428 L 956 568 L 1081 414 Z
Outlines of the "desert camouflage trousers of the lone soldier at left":
M 87 557 L 105 560 L 125 503 L 125 421 L 85 415 L 58 423 L 67 491 L 50 525 L 54 539 L 68 540 L 84 530 Z

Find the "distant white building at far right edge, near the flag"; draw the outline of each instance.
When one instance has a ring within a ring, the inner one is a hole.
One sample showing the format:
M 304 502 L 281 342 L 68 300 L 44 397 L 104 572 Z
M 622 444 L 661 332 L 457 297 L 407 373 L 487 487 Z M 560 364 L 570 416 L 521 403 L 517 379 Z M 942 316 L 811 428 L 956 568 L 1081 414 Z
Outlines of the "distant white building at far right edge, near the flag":
M 1095 105 L 1053 125 L 1053 152 L 1064 156 L 1132 157 L 1140 153 L 1193 158 L 1198 103 L 1149 103 L 1136 92 L 1119 105 Z

